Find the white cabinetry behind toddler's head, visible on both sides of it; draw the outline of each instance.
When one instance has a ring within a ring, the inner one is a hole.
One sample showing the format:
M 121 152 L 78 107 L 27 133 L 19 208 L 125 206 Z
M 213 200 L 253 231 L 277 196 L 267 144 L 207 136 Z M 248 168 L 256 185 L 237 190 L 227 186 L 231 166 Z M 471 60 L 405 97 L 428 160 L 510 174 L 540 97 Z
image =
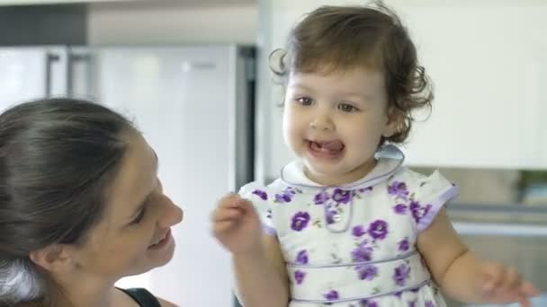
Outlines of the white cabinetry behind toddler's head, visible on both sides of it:
M 402 17 L 435 84 L 433 112 L 403 147 L 416 166 L 547 169 L 547 3 L 480 0 L 386 1 Z M 303 13 L 362 1 L 265 0 L 259 76 L 257 175 L 277 176 L 290 159 L 281 137 L 282 98 L 271 89 L 267 55 L 284 46 Z M 418 118 L 424 118 L 423 116 Z M 261 140 L 262 139 L 262 140 Z

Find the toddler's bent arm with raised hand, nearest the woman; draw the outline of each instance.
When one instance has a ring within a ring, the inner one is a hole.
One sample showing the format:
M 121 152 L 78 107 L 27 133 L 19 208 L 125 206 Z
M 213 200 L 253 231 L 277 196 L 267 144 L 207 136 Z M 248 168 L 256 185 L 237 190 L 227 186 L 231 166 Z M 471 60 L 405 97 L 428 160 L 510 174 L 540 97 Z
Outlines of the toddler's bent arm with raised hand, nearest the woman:
M 232 254 L 238 298 L 245 307 L 287 307 L 289 278 L 277 237 L 263 234 L 253 205 L 229 195 L 212 216 L 216 238 Z

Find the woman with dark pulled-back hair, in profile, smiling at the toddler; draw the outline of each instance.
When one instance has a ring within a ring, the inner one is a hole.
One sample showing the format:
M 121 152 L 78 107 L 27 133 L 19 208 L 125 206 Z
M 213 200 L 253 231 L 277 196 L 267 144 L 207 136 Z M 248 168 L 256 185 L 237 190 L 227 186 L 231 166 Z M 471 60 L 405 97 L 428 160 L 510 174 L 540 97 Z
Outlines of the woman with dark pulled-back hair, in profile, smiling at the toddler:
M 182 218 L 121 115 L 71 99 L 0 115 L 0 306 L 175 306 L 114 284 L 165 265 Z

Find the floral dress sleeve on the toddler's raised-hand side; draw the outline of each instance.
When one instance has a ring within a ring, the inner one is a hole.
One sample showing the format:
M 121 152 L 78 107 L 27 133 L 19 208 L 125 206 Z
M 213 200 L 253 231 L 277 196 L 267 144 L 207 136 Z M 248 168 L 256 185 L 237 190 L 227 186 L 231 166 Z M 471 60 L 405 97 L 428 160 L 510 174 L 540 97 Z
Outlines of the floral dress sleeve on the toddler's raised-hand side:
M 272 197 L 268 193 L 267 187 L 258 182 L 247 183 L 241 187 L 238 192 L 240 197 L 249 200 L 255 207 L 256 213 L 260 217 L 260 222 L 265 234 L 276 235 L 272 219 Z

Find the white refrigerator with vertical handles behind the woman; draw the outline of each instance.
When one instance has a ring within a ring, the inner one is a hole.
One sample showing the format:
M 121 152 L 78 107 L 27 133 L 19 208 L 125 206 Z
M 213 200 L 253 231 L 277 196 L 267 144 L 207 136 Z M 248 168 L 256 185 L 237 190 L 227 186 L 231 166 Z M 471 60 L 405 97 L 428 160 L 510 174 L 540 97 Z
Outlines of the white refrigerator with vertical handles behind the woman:
M 216 200 L 253 179 L 255 49 L 214 46 L 0 48 L 0 109 L 88 98 L 134 119 L 185 212 L 174 259 L 118 285 L 182 306 L 233 306 L 229 254 L 211 237 Z

